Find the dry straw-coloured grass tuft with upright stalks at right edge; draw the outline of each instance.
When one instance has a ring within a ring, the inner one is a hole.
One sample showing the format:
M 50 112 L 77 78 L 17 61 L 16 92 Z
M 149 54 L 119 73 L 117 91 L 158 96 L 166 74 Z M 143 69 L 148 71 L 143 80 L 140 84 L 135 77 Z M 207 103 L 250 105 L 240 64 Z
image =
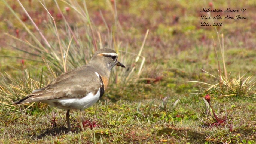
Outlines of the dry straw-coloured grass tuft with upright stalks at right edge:
M 197 82 L 197 83 L 208 85 L 209 87 L 203 88 L 204 93 L 212 93 L 212 94 L 218 93 L 220 97 L 224 97 L 224 96 L 254 97 L 256 95 L 256 79 L 253 78 L 253 76 L 248 76 L 248 77 L 245 77 L 245 75 L 240 76 L 240 73 L 239 73 L 237 78 L 233 78 L 230 76 L 230 73 L 229 75 L 227 74 L 227 69 L 225 66 L 225 57 L 224 57 L 223 34 L 221 36 L 222 36 L 222 44 L 220 42 L 219 35 L 218 35 L 218 39 L 220 43 L 220 52 L 222 56 L 224 72 L 222 73 L 222 70 L 221 70 L 220 60 L 219 60 L 218 52 L 216 50 L 216 44 L 214 39 L 213 39 L 214 50 L 215 50 L 216 58 L 218 61 L 218 76 L 214 76 L 209 72 L 203 70 L 204 72 L 214 77 L 218 82 L 215 84 L 209 84 L 209 83 L 200 82 L 200 81 L 189 81 L 189 82 Z

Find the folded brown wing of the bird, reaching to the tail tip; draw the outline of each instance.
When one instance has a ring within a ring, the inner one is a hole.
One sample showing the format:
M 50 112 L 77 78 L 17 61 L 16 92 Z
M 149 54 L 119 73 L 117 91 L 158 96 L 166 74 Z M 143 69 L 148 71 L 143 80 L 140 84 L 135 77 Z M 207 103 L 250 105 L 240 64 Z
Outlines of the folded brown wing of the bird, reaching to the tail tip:
M 88 93 L 97 93 L 101 87 L 100 78 L 90 66 L 82 66 L 63 73 L 46 87 L 35 90 L 14 104 L 42 102 L 50 99 L 84 97 Z

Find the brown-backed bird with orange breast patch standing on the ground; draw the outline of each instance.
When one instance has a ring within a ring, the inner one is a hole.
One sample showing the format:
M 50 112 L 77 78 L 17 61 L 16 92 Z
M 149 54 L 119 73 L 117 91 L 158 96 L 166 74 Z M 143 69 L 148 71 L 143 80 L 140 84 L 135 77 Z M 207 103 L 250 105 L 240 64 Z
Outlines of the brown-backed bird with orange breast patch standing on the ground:
M 65 109 L 68 131 L 70 127 L 70 110 L 80 110 L 79 125 L 82 124 L 82 112 L 95 104 L 104 94 L 109 81 L 111 69 L 116 66 L 125 66 L 117 61 L 118 54 L 108 48 L 102 48 L 93 54 L 88 64 L 72 69 L 58 76 L 47 86 L 36 89 L 23 99 L 13 102 L 20 105 L 30 102 L 42 102 L 48 105 Z

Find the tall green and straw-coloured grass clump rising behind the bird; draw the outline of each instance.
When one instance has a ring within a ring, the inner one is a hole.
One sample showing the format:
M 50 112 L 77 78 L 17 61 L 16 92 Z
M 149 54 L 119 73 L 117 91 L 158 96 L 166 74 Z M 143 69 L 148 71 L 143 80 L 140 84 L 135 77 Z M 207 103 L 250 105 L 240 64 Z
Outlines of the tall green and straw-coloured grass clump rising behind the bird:
M 134 82 L 134 79 L 140 77 L 145 62 L 145 57 L 141 56 L 141 52 L 149 31 L 147 30 L 145 34 L 144 41 L 138 54 L 130 53 L 130 47 L 128 45 L 127 47 L 121 46 L 121 41 L 118 41 L 118 38 L 115 36 L 115 33 L 119 30 L 119 25 L 116 9 L 112 8 L 111 5 L 109 7 L 115 12 L 114 19 L 116 20 L 116 23 L 113 24 L 111 29 L 105 23 L 108 33 L 104 34 L 100 33 L 100 30 L 96 29 L 96 26 L 93 25 L 85 1 L 54 1 L 55 7 L 57 7 L 57 10 L 61 15 L 60 19 L 62 20 L 62 23 L 56 23 L 57 20 L 49 12 L 47 4 L 39 1 L 39 4 L 48 16 L 48 19 L 46 19 L 48 22 L 46 24 L 48 27 L 47 35 L 50 35 L 51 37 L 47 37 L 40 29 L 40 26 L 33 21 L 33 18 L 23 6 L 22 2 L 18 0 L 26 17 L 28 17 L 28 20 L 32 23 L 31 25 L 23 22 L 22 18 L 13 10 L 8 2 L 4 0 L 4 3 L 22 24 L 23 29 L 26 30 L 31 39 L 26 40 L 5 33 L 6 36 L 14 39 L 17 43 L 21 43 L 23 46 L 25 45 L 26 49 L 16 48 L 15 45 L 11 46 L 28 54 L 30 59 L 41 59 L 44 62 L 44 68 L 46 67 L 47 69 L 43 71 L 43 68 L 37 67 L 38 69 L 42 69 L 40 74 L 30 73 L 25 70 L 25 72 L 22 72 L 21 76 L 18 76 L 17 78 L 11 78 L 7 73 L 1 72 L 1 75 L 4 77 L 0 86 L 1 107 L 15 110 L 11 105 L 13 100 L 25 97 L 34 89 L 47 85 L 63 72 L 87 64 L 92 57 L 92 54 L 99 48 L 111 48 L 116 50 L 119 54 L 119 61 L 124 63 L 127 67 L 126 69 L 114 68 L 110 78 L 111 82 L 128 85 Z M 84 23 L 83 29 L 78 29 L 78 27 L 71 28 L 66 16 L 61 11 L 59 3 L 68 6 L 74 11 L 74 15 L 79 17 L 78 20 Z M 103 16 L 102 19 L 104 20 Z M 62 24 L 61 26 L 66 27 L 66 29 L 57 24 Z M 35 28 L 37 33 L 31 31 L 29 28 L 31 26 Z M 84 33 L 81 33 L 81 31 Z M 98 36 L 96 36 L 96 33 Z M 105 44 L 103 44 L 103 42 L 105 42 Z M 106 46 L 103 47 L 103 45 Z M 33 103 L 25 104 L 25 106 L 26 108 L 34 107 Z M 38 105 L 36 108 L 40 106 L 41 105 Z M 21 106 L 18 107 L 21 109 Z

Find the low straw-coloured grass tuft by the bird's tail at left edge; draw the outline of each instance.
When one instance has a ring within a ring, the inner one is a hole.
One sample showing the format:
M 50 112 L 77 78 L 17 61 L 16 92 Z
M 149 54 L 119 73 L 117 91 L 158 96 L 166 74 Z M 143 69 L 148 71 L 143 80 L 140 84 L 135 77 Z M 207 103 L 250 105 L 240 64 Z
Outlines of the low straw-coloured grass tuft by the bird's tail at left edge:
M 48 81 L 47 78 L 43 78 L 43 69 L 40 73 L 31 73 L 30 69 L 25 69 L 20 76 L 12 77 L 8 73 L 1 73 L 4 80 L 1 81 L 0 86 L 0 106 L 4 109 L 23 111 L 27 109 L 37 109 L 42 105 L 40 103 L 28 103 L 26 105 L 20 105 L 13 107 L 13 100 L 25 97 L 28 93 L 31 93 L 34 89 L 39 89 Z

